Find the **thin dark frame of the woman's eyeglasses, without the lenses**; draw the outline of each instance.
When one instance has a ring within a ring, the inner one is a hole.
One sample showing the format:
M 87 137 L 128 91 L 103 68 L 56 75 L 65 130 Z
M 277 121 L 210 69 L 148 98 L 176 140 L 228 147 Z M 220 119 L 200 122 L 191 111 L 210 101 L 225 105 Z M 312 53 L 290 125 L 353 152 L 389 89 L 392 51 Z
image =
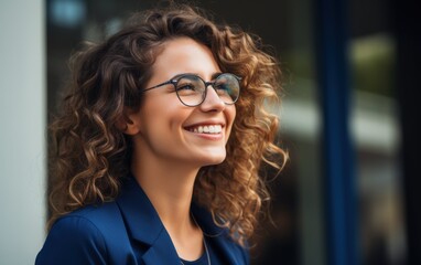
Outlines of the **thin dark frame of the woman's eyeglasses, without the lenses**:
M 215 85 L 215 83 L 216 83 L 216 80 L 217 80 L 219 76 L 222 76 L 222 75 L 226 75 L 226 74 L 234 76 L 234 77 L 237 80 L 237 82 L 238 82 L 238 96 L 237 96 L 237 98 L 236 98 L 235 100 L 233 100 L 233 103 L 226 103 L 226 102 L 223 100 L 225 105 L 234 105 L 234 104 L 238 100 L 239 95 L 240 95 L 240 88 L 241 88 L 241 86 L 240 86 L 240 81 L 241 81 L 241 77 L 239 77 L 239 76 L 237 76 L 237 75 L 235 75 L 235 74 L 231 74 L 231 73 L 219 73 L 219 74 L 217 74 L 217 75 L 215 76 L 215 78 L 214 78 L 215 81 L 209 81 L 209 82 L 204 81 L 201 76 L 198 76 L 198 75 L 196 75 L 196 74 L 190 74 L 190 73 L 180 74 L 180 75 L 176 75 L 176 76 L 172 77 L 171 80 L 165 81 L 165 82 L 163 82 L 163 83 L 161 83 L 161 84 L 158 84 L 158 85 L 155 85 L 155 86 L 145 88 L 145 89 L 143 89 L 142 92 L 144 93 L 144 92 L 148 92 L 148 91 L 151 91 L 151 89 L 154 89 L 154 88 L 159 88 L 159 87 L 164 86 L 164 85 L 170 85 L 170 84 L 172 84 L 172 85 L 174 86 L 174 92 L 175 92 L 175 94 L 176 94 L 179 100 L 180 100 L 184 106 L 187 106 L 187 107 L 197 107 L 197 106 L 199 106 L 202 103 L 205 102 L 205 99 L 206 99 L 206 95 L 207 95 L 207 87 L 210 85 L 212 88 L 214 88 L 215 92 L 216 92 L 216 88 L 214 87 L 214 85 Z M 204 96 L 203 96 L 203 98 L 202 98 L 202 102 L 199 102 L 198 104 L 188 105 L 188 104 L 185 104 L 185 103 L 180 98 L 180 95 L 179 95 L 179 93 L 177 93 L 176 85 L 177 85 L 179 81 L 180 81 L 181 78 L 185 77 L 185 76 L 194 76 L 194 77 L 197 77 L 197 78 L 199 78 L 199 80 L 203 82 L 203 84 L 205 85 Z M 216 92 L 216 94 L 218 94 L 218 93 Z M 218 97 L 219 97 L 219 95 L 218 95 Z M 220 97 L 219 97 L 219 99 L 220 99 Z

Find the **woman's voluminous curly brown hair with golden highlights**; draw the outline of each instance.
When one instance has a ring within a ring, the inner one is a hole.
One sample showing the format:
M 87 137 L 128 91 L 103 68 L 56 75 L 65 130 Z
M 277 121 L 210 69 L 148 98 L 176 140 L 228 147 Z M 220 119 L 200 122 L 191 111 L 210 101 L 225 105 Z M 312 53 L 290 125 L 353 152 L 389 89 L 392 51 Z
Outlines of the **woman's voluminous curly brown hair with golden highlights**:
M 199 170 L 194 200 L 215 222 L 244 243 L 269 200 L 263 163 L 281 169 L 288 155 L 273 144 L 281 71 L 260 39 L 216 24 L 203 11 L 182 4 L 136 13 L 121 31 L 88 44 L 71 60 L 73 78 L 62 114 L 51 124 L 51 219 L 87 204 L 114 200 L 129 173 L 130 138 L 117 128 L 125 107 L 139 109 L 151 66 L 169 40 L 187 36 L 210 49 L 220 70 L 241 76 L 237 117 L 220 165 Z M 215 178 L 217 176 L 217 178 Z

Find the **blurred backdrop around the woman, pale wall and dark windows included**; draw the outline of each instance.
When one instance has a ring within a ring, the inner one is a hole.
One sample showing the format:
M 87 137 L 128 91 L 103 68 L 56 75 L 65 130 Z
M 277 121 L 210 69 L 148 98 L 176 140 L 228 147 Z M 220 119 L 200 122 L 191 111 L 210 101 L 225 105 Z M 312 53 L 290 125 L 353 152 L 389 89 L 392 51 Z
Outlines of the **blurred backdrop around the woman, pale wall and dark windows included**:
M 69 55 L 155 3 L 0 3 L 0 264 L 33 264 L 45 239 L 45 128 Z M 291 160 L 270 178 L 271 218 L 252 264 L 421 264 L 417 9 L 407 0 L 195 3 L 260 35 L 283 68 L 273 109 Z

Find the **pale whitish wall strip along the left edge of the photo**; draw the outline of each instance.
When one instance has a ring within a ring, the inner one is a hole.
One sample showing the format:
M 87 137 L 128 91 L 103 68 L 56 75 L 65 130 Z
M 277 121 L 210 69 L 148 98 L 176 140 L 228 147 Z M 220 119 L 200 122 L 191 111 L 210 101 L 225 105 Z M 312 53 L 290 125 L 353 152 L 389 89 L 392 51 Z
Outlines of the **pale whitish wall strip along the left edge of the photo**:
M 44 241 L 43 0 L 0 2 L 0 264 L 33 264 Z

